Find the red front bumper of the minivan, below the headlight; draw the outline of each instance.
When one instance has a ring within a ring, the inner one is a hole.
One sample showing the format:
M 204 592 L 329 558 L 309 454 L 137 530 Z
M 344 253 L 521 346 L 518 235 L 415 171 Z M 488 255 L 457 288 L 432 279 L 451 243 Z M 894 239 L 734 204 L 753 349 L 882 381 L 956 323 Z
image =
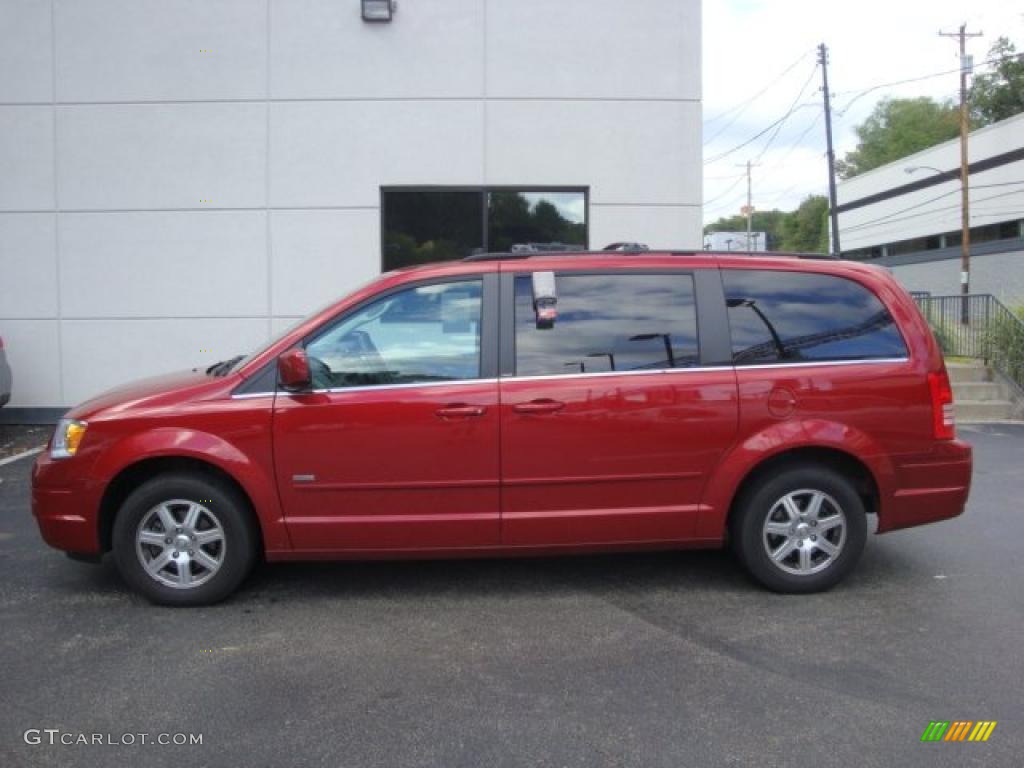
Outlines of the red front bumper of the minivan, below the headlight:
M 32 468 L 32 514 L 43 541 L 55 549 L 83 555 L 101 552 L 96 514 L 102 489 L 71 477 L 69 461 L 54 462 L 43 452 Z

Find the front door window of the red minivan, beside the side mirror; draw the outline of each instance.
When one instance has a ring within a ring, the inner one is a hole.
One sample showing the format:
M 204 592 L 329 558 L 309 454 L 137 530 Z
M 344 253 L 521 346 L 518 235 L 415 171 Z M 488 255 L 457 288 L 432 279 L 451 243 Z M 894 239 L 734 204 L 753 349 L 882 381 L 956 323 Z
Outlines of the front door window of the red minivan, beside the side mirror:
M 313 389 L 478 379 L 480 281 L 386 296 L 313 339 L 306 354 Z

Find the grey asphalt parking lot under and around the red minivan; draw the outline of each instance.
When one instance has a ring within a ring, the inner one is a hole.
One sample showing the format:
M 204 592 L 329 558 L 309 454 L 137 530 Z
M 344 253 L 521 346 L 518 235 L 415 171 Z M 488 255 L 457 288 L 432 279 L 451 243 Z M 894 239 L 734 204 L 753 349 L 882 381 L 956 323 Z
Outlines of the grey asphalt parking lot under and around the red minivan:
M 1019 766 L 1024 427 L 962 433 L 967 514 L 810 597 L 691 552 L 271 565 L 158 608 L 49 550 L 31 460 L 2 466 L 0 765 Z M 46 728 L 203 743 L 26 743 Z

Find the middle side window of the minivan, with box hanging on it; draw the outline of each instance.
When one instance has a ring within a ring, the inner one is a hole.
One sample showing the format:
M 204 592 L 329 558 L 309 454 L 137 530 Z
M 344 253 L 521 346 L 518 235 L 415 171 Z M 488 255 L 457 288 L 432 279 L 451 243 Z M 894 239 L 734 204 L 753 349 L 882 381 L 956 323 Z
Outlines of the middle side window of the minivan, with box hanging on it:
M 558 318 L 539 329 L 529 275 L 515 281 L 516 375 L 695 366 L 689 274 L 558 274 Z

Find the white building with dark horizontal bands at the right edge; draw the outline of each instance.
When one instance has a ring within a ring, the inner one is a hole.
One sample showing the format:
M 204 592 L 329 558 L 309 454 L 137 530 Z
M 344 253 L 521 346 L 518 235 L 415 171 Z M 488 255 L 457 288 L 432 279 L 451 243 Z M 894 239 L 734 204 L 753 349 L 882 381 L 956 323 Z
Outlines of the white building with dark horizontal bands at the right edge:
M 969 139 L 971 290 L 1024 304 L 1024 114 Z M 959 293 L 959 140 L 842 181 L 843 255 L 894 269 L 911 290 Z

